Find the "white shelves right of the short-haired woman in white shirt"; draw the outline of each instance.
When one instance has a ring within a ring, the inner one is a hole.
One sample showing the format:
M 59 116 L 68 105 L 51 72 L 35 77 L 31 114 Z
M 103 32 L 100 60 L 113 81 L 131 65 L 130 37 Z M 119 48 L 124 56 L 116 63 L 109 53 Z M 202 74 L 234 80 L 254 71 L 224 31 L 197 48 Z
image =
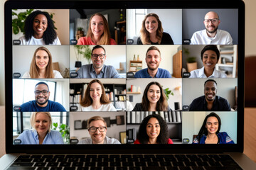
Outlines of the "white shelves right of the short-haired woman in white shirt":
M 235 78 L 237 76 L 237 45 L 218 45 L 220 50 L 220 59 L 216 64 L 216 69 L 225 72 L 228 77 Z

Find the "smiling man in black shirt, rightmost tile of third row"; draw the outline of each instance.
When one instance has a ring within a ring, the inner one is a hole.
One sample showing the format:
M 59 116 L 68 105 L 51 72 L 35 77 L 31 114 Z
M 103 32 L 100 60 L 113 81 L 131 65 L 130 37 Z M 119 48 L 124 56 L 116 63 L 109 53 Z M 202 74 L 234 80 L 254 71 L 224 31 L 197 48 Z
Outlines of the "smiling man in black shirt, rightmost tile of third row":
M 216 94 L 217 82 L 213 79 L 206 80 L 204 96 L 194 99 L 189 106 L 189 111 L 231 111 L 228 101 Z

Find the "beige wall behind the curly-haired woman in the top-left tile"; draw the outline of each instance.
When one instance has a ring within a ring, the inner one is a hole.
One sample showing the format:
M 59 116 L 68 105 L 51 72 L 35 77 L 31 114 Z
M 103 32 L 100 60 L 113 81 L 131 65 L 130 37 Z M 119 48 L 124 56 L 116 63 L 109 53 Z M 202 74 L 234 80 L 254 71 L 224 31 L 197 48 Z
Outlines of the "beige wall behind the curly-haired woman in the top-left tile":
M 20 9 L 15 11 L 16 13 L 20 13 L 26 11 L 26 9 Z M 36 11 L 36 10 L 34 10 Z M 55 13 L 53 15 L 53 21 L 55 21 L 54 26 L 57 28 L 56 32 L 58 34 L 58 38 L 60 39 L 60 43 L 62 45 L 69 45 L 69 10 L 68 9 L 40 9 L 40 11 L 47 11 L 48 13 Z M 16 18 L 16 16 L 13 16 Z M 14 40 L 17 40 L 23 35 L 23 33 L 18 33 L 14 35 Z

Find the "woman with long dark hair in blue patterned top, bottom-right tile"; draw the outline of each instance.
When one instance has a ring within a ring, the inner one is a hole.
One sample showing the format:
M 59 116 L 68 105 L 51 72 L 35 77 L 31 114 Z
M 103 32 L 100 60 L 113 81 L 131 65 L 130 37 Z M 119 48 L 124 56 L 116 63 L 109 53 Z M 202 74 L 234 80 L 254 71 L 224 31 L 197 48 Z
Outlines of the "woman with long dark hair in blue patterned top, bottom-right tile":
M 206 115 L 198 136 L 193 139 L 193 144 L 234 144 L 227 132 L 220 132 L 220 117 L 212 112 Z

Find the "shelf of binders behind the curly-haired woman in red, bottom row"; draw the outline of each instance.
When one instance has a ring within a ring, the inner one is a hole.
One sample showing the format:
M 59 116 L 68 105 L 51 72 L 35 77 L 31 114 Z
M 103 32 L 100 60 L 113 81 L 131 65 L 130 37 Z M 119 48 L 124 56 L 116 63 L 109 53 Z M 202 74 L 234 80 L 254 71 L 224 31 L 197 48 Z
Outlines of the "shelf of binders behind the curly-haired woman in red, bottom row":
M 136 111 L 127 112 L 127 130 L 132 129 L 134 134 L 134 140 L 136 140 L 137 132 L 139 131 L 139 125 L 147 115 L 159 114 L 168 126 L 168 137 L 173 140 L 174 143 L 181 143 L 182 140 L 182 120 L 181 111 L 161 111 L 161 112 L 147 112 L 147 111 Z M 175 116 L 174 116 L 175 115 Z M 174 118 L 175 117 L 175 118 Z M 179 117 L 179 118 L 177 118 Z

